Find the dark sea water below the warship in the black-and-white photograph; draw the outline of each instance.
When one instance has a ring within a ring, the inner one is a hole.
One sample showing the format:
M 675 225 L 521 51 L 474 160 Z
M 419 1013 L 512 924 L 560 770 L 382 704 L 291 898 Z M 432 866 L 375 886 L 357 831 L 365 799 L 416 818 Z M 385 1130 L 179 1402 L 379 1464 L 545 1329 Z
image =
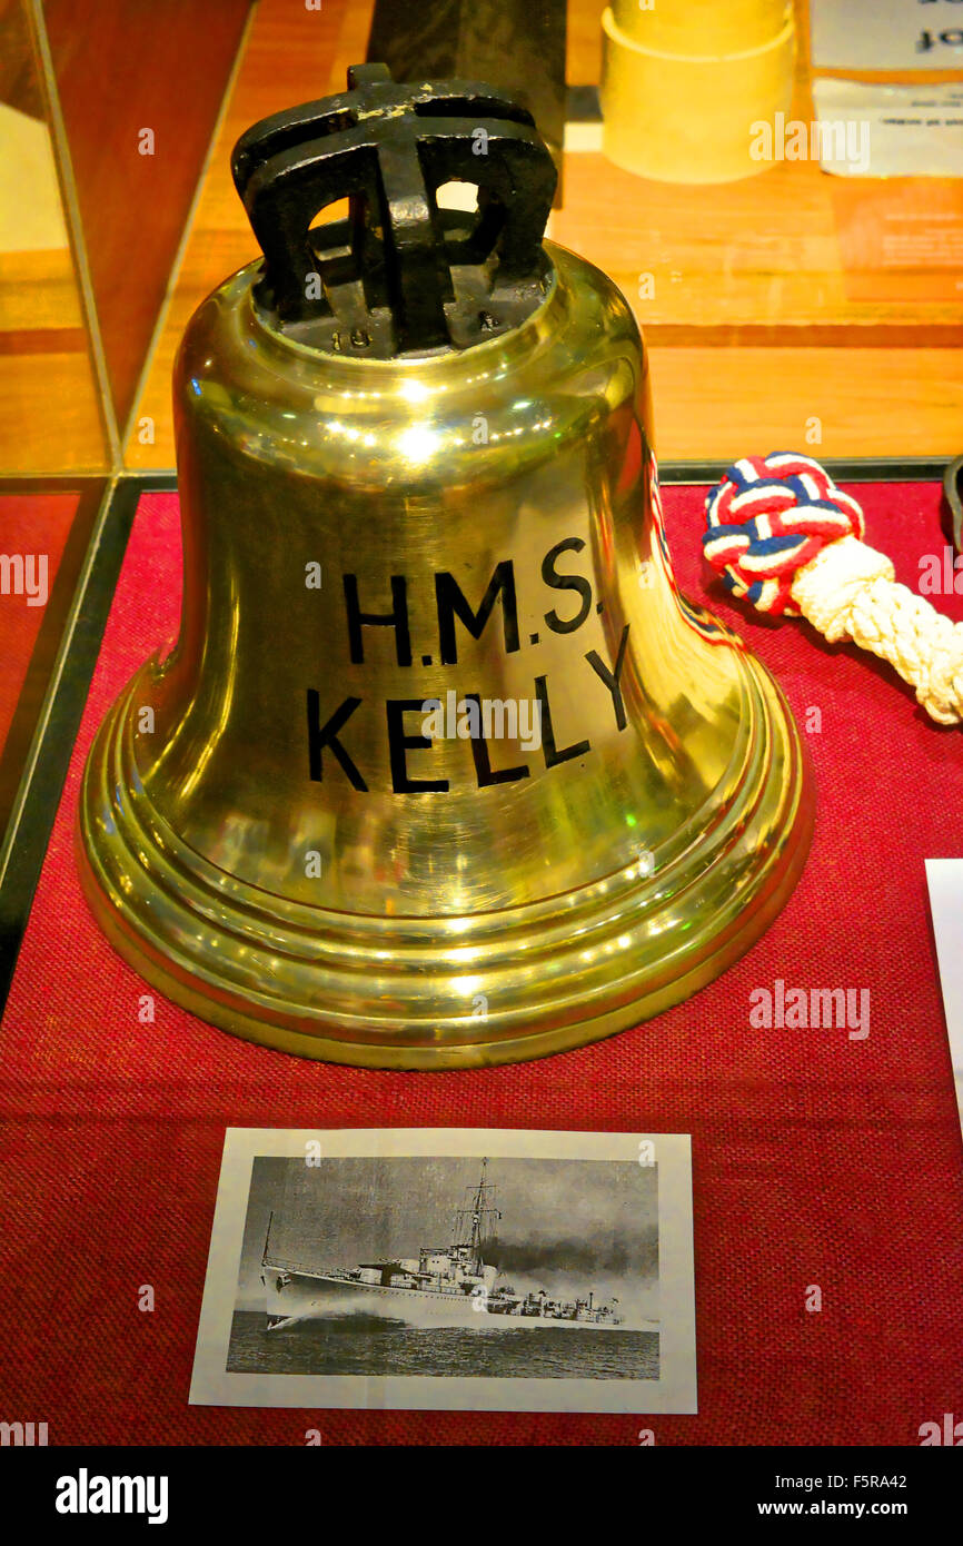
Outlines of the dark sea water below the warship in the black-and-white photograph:
M 382 1374 L 473 1379 L 658 1379 L 657 1331 L 553 1326 L 420 1328 L 360 1316 L 267 1331 L 235 1311 L 229 1374 Z

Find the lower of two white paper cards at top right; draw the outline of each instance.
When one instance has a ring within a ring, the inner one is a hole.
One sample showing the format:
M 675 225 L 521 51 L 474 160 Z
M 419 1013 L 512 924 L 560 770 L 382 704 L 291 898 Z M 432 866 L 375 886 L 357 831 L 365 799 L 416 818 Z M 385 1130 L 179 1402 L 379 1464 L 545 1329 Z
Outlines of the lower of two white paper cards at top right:
M 813 82 L 813 99 L 824 172 L 963 176 L 963 82 L 883 87 L 824 79 Z

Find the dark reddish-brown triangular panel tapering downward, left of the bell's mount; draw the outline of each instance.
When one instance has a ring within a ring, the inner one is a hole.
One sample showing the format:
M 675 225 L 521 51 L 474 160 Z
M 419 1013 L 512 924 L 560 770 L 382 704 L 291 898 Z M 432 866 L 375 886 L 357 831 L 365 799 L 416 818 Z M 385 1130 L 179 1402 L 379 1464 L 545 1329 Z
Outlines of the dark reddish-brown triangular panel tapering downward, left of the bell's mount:
M 117 422 L 133 405 L 250 0 L 45 0 Z M 150 128 L 155 153 L 139 153 Z

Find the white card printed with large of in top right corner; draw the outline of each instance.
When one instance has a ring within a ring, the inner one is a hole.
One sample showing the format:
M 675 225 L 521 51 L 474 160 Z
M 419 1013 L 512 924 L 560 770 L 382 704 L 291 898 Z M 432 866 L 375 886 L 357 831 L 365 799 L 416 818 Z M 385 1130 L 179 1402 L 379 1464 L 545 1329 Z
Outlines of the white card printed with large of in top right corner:
M 958 0 L 812 0 L 818 70 L 963 70 Z

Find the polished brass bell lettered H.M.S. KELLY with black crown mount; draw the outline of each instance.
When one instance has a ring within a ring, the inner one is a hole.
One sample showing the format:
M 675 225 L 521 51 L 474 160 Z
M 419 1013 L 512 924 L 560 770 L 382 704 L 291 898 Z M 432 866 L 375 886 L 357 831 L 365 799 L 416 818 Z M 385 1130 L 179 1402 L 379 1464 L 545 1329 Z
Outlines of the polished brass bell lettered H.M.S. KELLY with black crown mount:
M 812 795 L 779 690 L 675 587 L 632 312 L 543 244 L 552 158 L 488 87 L 359 66 L 233 175 L 264 260 L 178 357 L 181 634 L 90 753 L 91 908 L 172 999 L 312 1057 L 635 1025 L 771 921 Z

